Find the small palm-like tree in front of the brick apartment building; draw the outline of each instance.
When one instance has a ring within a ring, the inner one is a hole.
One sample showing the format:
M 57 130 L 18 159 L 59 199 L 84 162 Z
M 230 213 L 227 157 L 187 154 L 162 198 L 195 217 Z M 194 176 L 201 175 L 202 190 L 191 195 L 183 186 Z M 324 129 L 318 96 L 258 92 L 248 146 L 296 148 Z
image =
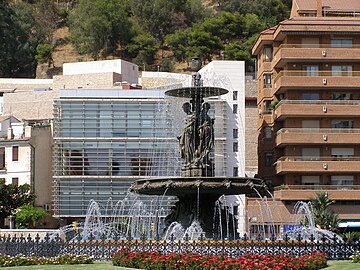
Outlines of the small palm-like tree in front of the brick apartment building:
M 331 209 L 334 202 L 326 192 L 320 192 L 310 199 L 314 222 L 322 229 L 336 231 L 339 226 L 340 219 Z

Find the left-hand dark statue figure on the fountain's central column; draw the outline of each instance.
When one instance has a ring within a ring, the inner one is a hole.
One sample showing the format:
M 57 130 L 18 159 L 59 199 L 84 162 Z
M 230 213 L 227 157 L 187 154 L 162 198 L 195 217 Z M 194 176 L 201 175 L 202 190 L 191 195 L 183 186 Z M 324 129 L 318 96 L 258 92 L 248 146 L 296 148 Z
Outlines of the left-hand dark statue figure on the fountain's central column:
M 195 153 L 195 122 L 196 116 L 191 110 L 191 104 L 186 102 L 182 106 L 184 112 L 187 114 L 185 126 L 181 136 L 178 137 L 181 158 L 185 160 L 185 166 L 191 165 Z

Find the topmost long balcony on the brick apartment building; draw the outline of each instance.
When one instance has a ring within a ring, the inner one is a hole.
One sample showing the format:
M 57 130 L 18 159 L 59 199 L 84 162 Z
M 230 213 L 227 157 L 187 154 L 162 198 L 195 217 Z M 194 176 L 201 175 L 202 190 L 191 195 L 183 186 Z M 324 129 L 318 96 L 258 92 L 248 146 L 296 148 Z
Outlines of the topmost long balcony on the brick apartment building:
M 354 62 L 360 58 L 360 45 L 350 48 L 323 45 L 282 44 L 275 52 L 273 68 L 283 68 L 296 62 Z

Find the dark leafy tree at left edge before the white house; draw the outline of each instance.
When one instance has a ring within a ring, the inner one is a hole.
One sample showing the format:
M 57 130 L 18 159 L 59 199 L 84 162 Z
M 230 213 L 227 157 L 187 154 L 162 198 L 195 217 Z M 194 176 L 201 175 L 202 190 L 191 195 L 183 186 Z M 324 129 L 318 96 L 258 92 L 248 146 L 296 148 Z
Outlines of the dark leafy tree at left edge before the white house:
M 5 179 L 0 179 L 0 228 L 4 227 L 5 218 L 14 215 L 17 208 L 34 200 L 30 185 L 7 185 Z

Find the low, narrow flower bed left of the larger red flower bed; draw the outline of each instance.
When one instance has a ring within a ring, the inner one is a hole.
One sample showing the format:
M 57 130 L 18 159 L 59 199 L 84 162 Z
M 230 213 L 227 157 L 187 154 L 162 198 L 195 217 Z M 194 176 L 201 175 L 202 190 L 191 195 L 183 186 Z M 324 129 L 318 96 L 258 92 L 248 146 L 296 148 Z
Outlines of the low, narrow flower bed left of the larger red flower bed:
M 90 264 L 93 259 L 88 255 L 62 255 L 58 257 L 45 258 L 45 257 L 25 257 L 22 255 L 17 256 L 0 256 L 0 267 L 7 266 L 24 266 L 24 265 L 44 265 L 44 264 Z

